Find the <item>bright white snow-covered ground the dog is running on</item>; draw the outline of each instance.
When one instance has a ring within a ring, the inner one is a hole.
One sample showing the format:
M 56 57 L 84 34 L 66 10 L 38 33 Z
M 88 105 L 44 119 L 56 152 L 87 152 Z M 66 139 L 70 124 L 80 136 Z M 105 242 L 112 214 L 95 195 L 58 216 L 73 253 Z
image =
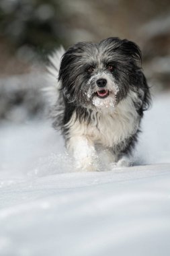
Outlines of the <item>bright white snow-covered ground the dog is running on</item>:
M 47 121 L 0 125 L 1 256 L 169 256 L 170 95 L 153 100 L 134 166 L 75 172 Z

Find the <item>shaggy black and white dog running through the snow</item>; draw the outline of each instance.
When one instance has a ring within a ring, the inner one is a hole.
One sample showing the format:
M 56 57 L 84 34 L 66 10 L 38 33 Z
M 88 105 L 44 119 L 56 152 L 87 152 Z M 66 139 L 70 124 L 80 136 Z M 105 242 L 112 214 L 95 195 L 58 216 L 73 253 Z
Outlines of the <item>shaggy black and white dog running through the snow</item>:
M 61 129 L 76 167 L 98 170 L 99 160 L 106 158 L 129 165 L 151 98 L 138 46 L 116 37 L 79 42 L 56 51 L 50 63 L 58 91 L 54 127 Z

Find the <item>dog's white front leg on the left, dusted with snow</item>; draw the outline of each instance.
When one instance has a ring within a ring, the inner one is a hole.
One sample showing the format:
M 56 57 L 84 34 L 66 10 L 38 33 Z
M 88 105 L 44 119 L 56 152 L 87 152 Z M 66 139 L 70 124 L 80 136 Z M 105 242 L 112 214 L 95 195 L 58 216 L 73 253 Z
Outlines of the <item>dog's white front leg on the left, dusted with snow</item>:
M 97 154 L 94 144 L 85 136 L 74 136 L 67 141 L 67 149 L 75 158 L 79 170 L 97 170 Z

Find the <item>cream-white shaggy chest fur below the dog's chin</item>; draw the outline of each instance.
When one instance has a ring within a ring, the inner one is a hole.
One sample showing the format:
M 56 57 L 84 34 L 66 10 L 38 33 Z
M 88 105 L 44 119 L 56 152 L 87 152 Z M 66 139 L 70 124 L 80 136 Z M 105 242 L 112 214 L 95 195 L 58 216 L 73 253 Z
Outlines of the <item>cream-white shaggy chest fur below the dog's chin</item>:
M 139 117 L 134 108 L 133 100 L 136 94 L 130 92 L 115 108 L 103 109 L 101 113 L 92 115 L 92 122 L 74 121 L 68 123 L 70 136 L 85 136 L 93 143 L 99 143 L 105 147 L 112 147 L 127 137 L 134 134 L 138 129 Z

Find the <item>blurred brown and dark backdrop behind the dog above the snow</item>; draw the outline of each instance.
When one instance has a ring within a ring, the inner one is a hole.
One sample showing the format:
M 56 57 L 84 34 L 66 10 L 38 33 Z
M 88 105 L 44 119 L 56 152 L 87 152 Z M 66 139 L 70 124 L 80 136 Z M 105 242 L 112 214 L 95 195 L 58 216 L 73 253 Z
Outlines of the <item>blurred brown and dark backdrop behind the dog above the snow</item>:
M 42 117 L 48 54 L 109 36 L 140 46 L 153 94 L 170 90 L 169 0 L 1 0 L 0 119 Z

